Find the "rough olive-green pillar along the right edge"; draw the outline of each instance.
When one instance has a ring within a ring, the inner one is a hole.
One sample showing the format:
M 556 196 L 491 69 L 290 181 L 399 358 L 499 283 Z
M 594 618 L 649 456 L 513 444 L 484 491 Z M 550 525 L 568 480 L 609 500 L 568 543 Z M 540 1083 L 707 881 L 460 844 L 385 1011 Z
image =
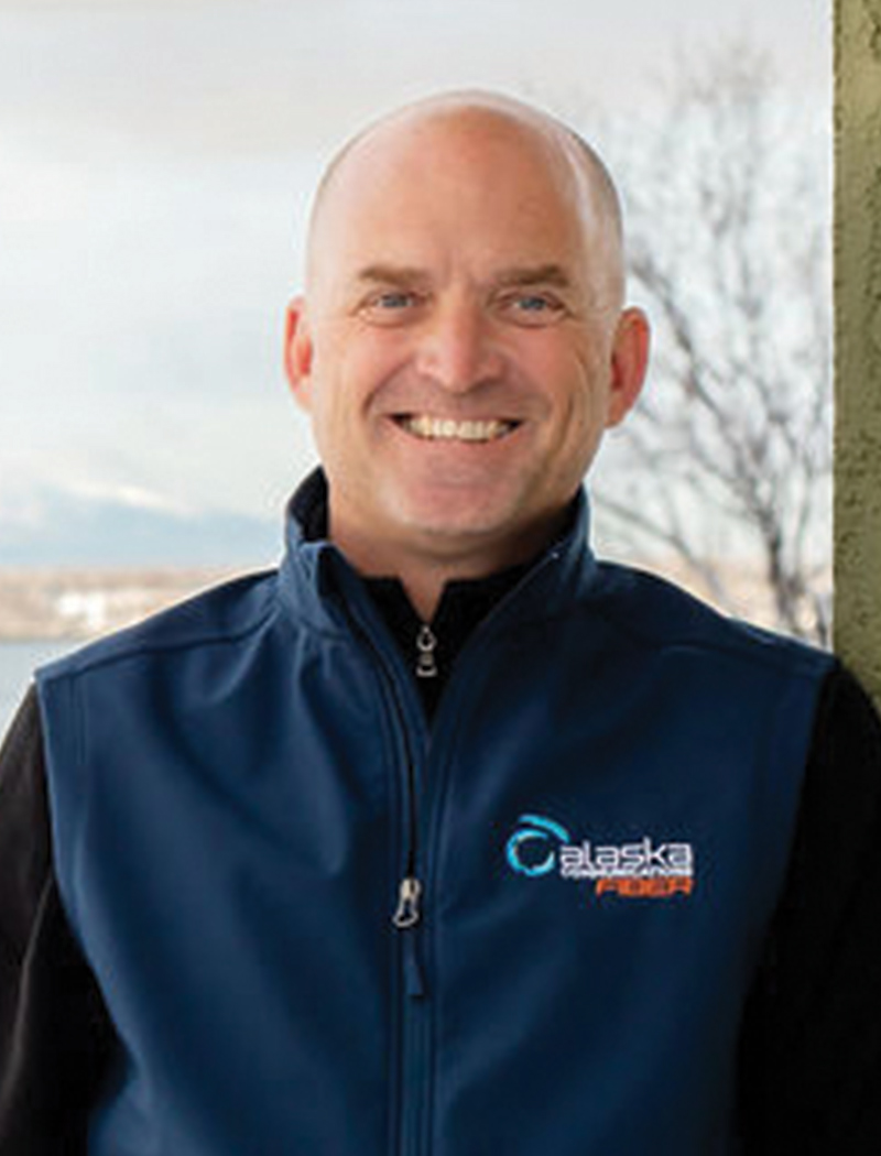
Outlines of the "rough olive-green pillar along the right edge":
M 835 0 L 835 649 L 881 703 L 881 0 Z

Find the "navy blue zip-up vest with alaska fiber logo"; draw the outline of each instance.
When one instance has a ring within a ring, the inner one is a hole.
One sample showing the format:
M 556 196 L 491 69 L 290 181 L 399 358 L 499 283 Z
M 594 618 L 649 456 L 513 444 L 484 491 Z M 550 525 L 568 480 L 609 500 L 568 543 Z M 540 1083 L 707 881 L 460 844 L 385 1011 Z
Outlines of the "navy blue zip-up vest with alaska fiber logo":
M 477 628 L 431 734 L 294 518 L 277 573 L 40 673 L 57 873 L 119 1037 L 94 1156 L 736 1151 L 829 660 L 584 536 L 582 510 Z

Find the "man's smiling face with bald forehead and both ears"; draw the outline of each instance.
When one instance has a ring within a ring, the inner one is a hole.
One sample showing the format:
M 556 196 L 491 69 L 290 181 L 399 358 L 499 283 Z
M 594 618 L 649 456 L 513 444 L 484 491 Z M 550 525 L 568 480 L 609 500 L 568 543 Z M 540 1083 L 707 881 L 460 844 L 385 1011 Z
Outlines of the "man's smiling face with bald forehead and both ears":
M 609 299 L 558 146 L 461 113 L 377 138 L 332 183 L 289 319 L 331 536 L 367 569 L 407 550 L 519 561 L 632 402 L 642 318 Z

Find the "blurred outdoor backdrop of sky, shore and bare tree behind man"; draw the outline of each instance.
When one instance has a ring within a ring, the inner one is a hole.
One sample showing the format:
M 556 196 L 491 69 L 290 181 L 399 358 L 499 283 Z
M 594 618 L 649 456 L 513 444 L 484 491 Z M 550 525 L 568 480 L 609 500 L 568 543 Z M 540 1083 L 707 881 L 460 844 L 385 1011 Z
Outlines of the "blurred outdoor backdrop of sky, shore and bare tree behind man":
M 453 87 L 621 186 L 656 357 L 598 547 L 826 643 L 827 0 L 0 0 L 0 728 L 36 662 L 276 560 L 311 192 Z

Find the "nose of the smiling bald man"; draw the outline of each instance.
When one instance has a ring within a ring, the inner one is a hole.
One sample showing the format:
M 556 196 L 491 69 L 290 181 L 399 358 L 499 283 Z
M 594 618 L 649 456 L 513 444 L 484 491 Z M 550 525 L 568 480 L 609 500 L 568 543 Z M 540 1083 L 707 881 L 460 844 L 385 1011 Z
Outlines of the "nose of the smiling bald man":
M 420 334 L 416 368 L 442 388 L 467 393 L 497 379 L 502 363 L 493 321 L 476 303 L 439 304 L 427 319 Z

